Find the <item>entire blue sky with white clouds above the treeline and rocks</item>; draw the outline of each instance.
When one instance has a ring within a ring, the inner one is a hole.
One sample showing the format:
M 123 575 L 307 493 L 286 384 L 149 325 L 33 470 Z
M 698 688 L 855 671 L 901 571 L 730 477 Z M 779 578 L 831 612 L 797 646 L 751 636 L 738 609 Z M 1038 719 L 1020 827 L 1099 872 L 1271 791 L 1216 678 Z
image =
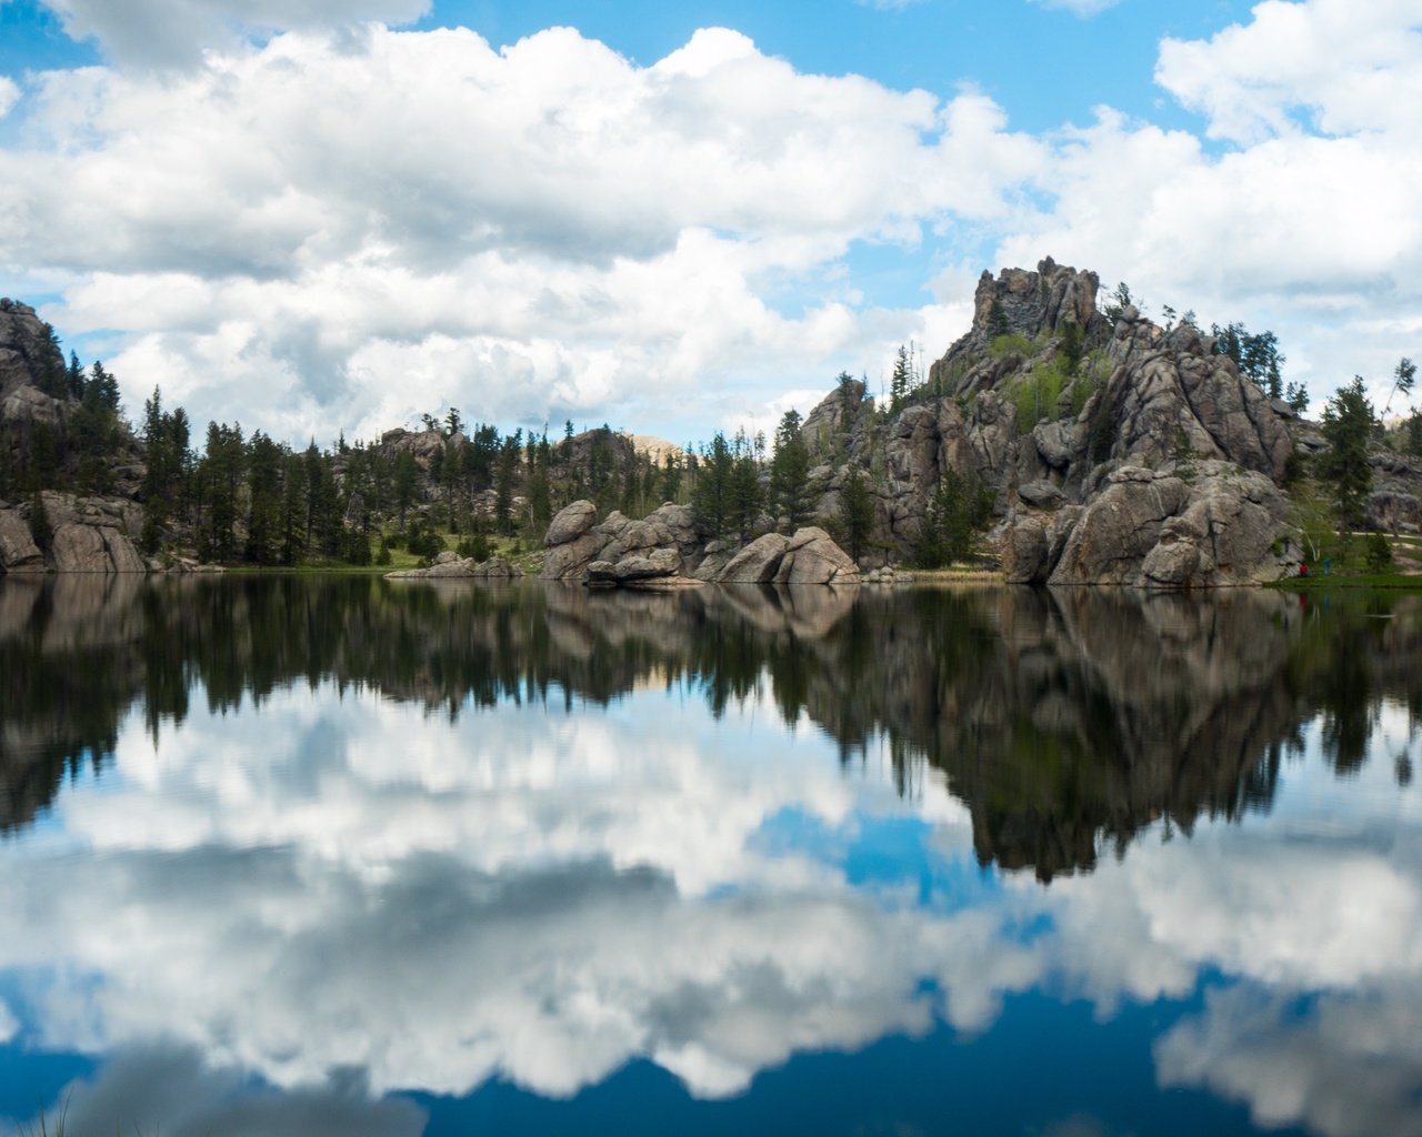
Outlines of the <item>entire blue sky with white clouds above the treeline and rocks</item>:
M 1045 256 L 1381 406 L 1419 105 L 1422 0 L 0 0 L 0 294 L 293 445 L 769 432 Z

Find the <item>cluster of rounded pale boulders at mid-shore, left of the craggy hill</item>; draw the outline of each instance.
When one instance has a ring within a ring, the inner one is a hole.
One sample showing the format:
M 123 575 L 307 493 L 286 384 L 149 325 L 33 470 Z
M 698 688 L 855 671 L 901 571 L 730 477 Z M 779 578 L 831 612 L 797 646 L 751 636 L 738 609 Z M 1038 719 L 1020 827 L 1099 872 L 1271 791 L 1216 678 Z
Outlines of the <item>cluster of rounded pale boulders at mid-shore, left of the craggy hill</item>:
M 822 529 L 793 537 L 766 533 L 734 551 L 707 541 L 688 506 L 667 503 L 629 520 L 613 512 L 600 523 L 592 502 L 574 502 L 549 526 L 545 580 L 592 587 L 668 588 L 693 584 L 853 584 L 859 566 Z

